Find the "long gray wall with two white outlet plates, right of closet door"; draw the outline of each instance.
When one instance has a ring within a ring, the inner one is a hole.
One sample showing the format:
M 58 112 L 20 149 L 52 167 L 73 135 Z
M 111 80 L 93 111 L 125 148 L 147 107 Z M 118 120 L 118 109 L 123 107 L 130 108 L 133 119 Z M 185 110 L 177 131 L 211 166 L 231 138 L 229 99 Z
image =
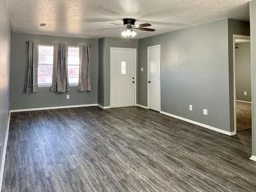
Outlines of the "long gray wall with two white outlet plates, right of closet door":
M 161 110 L 230 131 L 228 20 L 139 40 L 139 98 L 147 106 L 147 47 L 161 45 Z M 189 111 L 189 105 L 193 111 Z M 208 109 L 208 116 L 203 115 Z

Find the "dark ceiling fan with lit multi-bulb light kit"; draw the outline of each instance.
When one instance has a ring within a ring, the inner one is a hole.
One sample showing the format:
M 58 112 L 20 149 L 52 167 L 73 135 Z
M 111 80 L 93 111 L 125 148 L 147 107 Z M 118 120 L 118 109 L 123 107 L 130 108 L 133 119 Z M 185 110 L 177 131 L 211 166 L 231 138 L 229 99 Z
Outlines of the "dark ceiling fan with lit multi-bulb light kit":
M 124 37 L 127 37 L 127 36 L 129 37 L 130 35 L 132 35 L 132 37 L 134 37 L 137 34 L 136 32 L 134 32 L 134 29 L 142 30 L 142 31 L 155 31 L 155 29 L 144 28 L 144 27 L 147 27 L 147 26 L 151 26 L 151 24 L 143 23 L 143 24 L 135 25 L 135 21 L 136 21 L 135 19 L 124 18 L 123 19 L 123 25 L 111 23 L 111 24 L 122 26 L 122 27 L 109 28 L 109 29 L 124 29 L 124 32 L 121 33 L 122 36 L 124 36 Z M 106 29 L 102 29 L 102 30 L 106 30 Z

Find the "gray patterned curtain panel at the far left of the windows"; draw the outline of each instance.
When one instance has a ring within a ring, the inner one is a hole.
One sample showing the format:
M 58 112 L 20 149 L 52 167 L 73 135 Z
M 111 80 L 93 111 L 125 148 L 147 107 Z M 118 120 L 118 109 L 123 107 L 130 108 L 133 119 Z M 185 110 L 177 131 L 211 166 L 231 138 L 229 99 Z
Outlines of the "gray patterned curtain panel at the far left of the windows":
M 28 42 L 28 66 L 24 92 L 38 92 L 38 43 Z

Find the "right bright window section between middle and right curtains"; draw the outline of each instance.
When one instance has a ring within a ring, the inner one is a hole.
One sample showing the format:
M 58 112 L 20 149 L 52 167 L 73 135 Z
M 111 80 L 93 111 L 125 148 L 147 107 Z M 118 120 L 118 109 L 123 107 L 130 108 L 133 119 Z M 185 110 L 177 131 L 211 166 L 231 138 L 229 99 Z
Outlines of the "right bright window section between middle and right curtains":
M 68 82 L 78 85 L 79 79 L 79 48 L 68 46 Z

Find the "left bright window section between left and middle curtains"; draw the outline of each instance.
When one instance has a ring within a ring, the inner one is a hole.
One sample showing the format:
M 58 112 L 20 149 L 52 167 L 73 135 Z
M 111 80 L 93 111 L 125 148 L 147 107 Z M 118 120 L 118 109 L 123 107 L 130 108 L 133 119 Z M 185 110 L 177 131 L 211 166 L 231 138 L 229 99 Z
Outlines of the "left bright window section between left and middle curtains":
M 53 46 L 39 45 L 38 86 L 52 85 Z

